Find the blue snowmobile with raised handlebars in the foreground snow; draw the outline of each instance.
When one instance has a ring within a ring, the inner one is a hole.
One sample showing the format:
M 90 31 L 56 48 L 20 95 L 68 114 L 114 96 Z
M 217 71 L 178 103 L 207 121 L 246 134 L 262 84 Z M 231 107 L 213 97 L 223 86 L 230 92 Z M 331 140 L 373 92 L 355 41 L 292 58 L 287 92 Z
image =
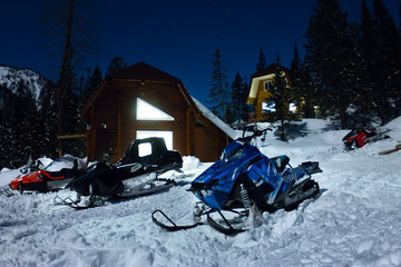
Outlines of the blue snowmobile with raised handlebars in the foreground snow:
M 194 210 L 196 222 L 178 226 L 162 210 L 153 212 L 153 221 L 170 231 L 208 224 L 226 235 L 235 235 L 244 230 L 244 221 L 253 220 L 255 214 L 292 210 L 305 199 L 316 197 L 319 184 L 311 177 L 322 172 L 319 162 L 307 161 L 293 168 L 285 155 L 267 158 L 251 144 L 267 130 L 243 135 L 224 149 L 218 161 L 194 179 L 188 190 L 202 201 Z M 207 216 L 206 222 L 199 220 L 202 215 Z M 218 219 L 214 218 L 216 215 Z M 228 218 L 232 215 L 235 218 Z

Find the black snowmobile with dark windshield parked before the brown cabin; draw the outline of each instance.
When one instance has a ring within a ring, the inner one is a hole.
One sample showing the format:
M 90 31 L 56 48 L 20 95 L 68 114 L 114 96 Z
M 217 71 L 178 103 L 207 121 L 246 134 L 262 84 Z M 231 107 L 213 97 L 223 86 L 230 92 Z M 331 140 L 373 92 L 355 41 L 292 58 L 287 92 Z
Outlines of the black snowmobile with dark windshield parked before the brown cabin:
M 77 199 L 56 197 L 55 202 L 84 209 L 92 207 L 96 197 L 129 198 L 164 190 L 176 182 L 158 176 L 182 167 L 180 154 L 167 150 L 163 138 L 137 139 L 116 165 L 97 162 L 71 180 L 66 188 L 75 190 Z

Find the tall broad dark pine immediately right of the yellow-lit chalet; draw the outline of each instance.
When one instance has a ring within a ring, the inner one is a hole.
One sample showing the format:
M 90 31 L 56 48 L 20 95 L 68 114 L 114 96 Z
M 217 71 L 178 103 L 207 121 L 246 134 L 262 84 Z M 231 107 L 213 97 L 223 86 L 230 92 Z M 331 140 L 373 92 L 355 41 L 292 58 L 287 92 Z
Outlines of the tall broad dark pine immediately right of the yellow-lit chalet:
M 319 82 L 314 85 L 320 109 L 323 115 L 339 116 L 343 129 L 355 77 L 355 31 L 346 17 L 336 0 L 319 0 L 305 34 L 305 60 Z

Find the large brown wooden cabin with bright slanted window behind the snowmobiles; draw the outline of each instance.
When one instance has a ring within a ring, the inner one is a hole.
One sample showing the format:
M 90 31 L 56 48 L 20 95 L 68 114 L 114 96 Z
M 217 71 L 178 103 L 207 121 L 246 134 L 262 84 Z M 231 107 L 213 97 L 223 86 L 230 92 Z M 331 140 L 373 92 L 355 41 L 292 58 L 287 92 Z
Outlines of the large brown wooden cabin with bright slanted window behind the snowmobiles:
M 117 161 L 133 140 L 157 136 L 183 156 L 215 161 L 235 138 L 179 79 L 144 62 L 107 76 L 81 117 L 88 128 L 89 160 L 102 160 L 109 154 Z

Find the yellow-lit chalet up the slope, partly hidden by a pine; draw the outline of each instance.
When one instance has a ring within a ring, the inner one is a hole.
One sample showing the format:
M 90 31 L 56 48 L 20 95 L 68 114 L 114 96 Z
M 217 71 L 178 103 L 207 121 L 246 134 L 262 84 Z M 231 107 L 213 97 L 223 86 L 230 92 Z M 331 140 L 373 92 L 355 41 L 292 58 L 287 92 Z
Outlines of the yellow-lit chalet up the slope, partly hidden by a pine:
M 291 70 L 281 67 L 287 87 L 291 87 Z M 267 99 L 272 97 L 271 89 L 274 87 L 274 75 L 277 70 L 277 63 L 272 63 L 261 71 L 254 73 L 251 78 L 250 93 L 247 105 L 254 107 L 250 115 L 251 121 L 265 120 L 264 111 L 268 109 Z

